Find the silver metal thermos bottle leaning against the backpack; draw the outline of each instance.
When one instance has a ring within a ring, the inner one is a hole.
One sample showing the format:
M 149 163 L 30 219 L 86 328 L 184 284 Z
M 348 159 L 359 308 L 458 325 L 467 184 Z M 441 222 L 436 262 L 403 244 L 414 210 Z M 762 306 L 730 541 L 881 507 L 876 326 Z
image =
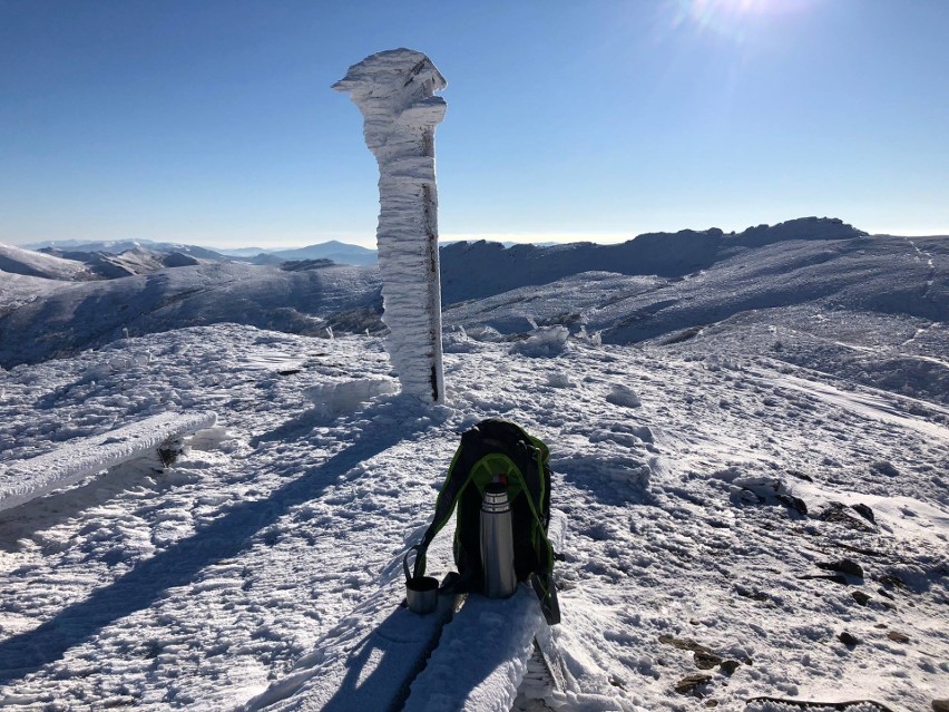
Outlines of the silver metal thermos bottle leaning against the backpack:
M 485 595 L 507 598 L 517 589 L 513 568 L 513 535 L 508 487 L 491 482 L 485 488 L 481 501 L 481 566 L 485 573 Z

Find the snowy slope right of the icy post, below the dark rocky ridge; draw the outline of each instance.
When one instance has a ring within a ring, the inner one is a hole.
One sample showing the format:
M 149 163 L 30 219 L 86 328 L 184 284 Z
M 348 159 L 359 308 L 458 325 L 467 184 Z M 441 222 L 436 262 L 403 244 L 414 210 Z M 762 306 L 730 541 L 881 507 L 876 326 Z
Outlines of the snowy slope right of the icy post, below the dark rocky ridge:
M 684 279 L 585 273 L 448 308 L 501 335 L 560 324 L 604 342 L 737 348 L 949 403 L 949 240 L 779 242 Z

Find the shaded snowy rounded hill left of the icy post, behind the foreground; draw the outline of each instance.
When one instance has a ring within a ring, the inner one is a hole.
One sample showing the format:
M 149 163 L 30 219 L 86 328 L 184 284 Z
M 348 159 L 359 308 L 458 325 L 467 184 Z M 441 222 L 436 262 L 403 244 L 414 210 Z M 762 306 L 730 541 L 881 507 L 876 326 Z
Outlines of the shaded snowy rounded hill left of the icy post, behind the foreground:
M 0 304 L 0 365 L 75 353 L 126 333 L 226 321 L 324 335 L 334 324 L 378 330 L 379 289 L 378 272 L 366 267 L 286 272 L 237 263 L 68 284 L 17 309 Z

